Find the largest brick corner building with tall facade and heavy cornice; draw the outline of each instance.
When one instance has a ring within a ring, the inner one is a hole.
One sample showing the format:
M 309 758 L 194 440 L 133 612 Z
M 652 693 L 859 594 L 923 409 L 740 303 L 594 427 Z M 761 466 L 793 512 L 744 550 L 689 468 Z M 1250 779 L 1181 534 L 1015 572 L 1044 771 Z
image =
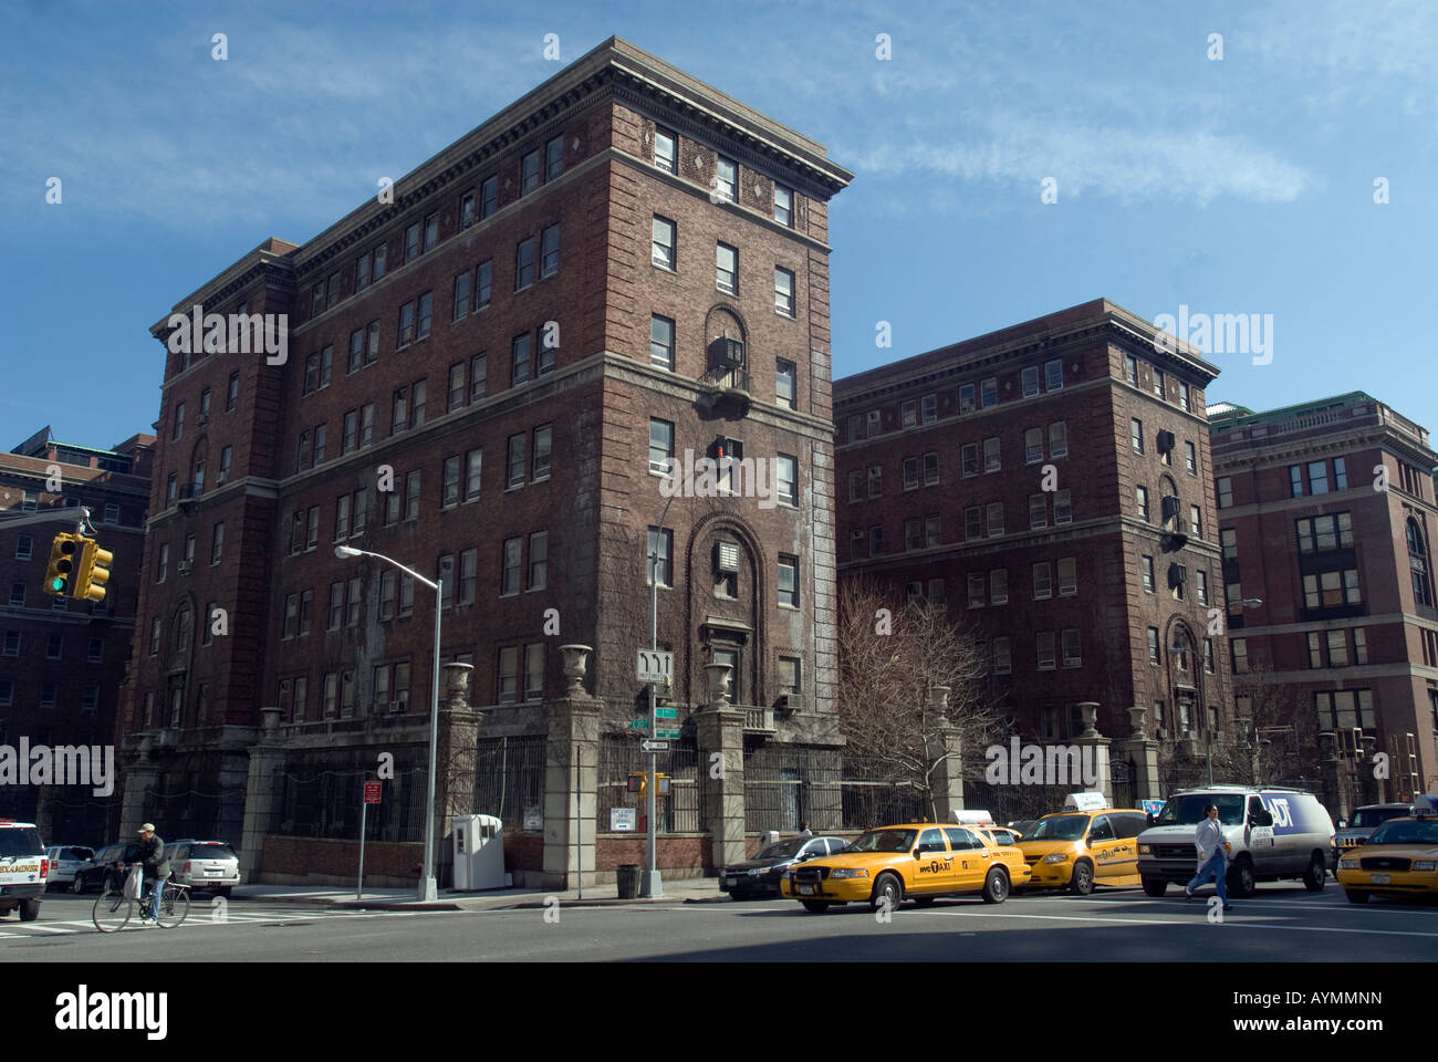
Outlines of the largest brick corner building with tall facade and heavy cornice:
M 441 773 L 460 764 L 441 812 L 502 813 L 510 865 L 562 878 L 564 764 L 585 819 L 607 820 L 601 790 L 633 763 L 656 548 L 687 784 L 666 814 L 713 839 L 673 861 L 722 862 L 736 833 L 742 850 L 743 822 L 716 810 L 725 786 L 742 802 L 742 771 L 710 791 L 696 757 L 837 744 L 827 201 L 848 180 L 823 145 L 611 39 L 393 201 L 270 239 L 180 299 L 285 314 L 288 353 L 191 355 L 170 315 L 152 330 L 127 816 L 243 835 L 270 879 L 349 873 L 357 780 L 391 753 L 370 865 L 410 872 L 434 603 L 344 544 L 443 580 L 443 656 L 472 672 L 441 720 Z M 772 507 L 661 494 L 667 462 L 720 448 L 772 466 Z M 571 704 L 561 643 L 591 648 L 597 701 Z M 716 661 L 743 711 L 689 721 Z M 590 823 L 581 858 L 603 872 Z

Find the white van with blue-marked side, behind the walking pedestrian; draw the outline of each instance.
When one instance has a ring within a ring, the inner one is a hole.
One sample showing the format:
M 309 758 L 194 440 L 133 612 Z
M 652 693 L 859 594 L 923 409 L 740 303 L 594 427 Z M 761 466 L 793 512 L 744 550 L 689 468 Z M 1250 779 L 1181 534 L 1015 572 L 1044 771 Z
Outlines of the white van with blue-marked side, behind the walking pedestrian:
M 1218 804 L 1234 897 L 1251 897 L 1257 882 L 1281 878 L 1301 878 L 1310 892 L 1323 888 L 1333 861 L 1333 819 L 1316 796 L 1301 789 L 1205 786 L 1171 796 L 1153 826 L 1139 835 L 1139 878 L 1150 897 L 1192 879 L 1194 835 L 1209 803 Z

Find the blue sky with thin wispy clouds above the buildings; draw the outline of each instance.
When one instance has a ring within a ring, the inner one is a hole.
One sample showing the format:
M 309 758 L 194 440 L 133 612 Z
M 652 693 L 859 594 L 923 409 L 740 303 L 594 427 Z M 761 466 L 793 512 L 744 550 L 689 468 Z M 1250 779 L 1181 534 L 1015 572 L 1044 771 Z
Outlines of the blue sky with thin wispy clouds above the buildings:
M 173 302 L 611 33 L 856 173 L 835 376 L 1107 296 L 1273 315 L 1271 363 L 1215 353 L 1211 401 L 1368 390 L 1438 430 L 1438 4 L 32 0 L 0 24 L 4 448 L 150 430 Z

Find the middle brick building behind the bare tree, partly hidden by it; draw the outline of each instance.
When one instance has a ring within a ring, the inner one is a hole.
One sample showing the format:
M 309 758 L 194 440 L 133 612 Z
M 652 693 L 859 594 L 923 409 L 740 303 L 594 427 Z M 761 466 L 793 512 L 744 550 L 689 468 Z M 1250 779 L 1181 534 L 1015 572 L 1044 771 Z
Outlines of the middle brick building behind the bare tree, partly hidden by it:
M 1025 740 L 1083 735 L 1096 702 L 1119 800 L 1235 741 L 1208 633 L 1217 373 L 1097 299 L 834 383 L 840 578 L 945 602 Z

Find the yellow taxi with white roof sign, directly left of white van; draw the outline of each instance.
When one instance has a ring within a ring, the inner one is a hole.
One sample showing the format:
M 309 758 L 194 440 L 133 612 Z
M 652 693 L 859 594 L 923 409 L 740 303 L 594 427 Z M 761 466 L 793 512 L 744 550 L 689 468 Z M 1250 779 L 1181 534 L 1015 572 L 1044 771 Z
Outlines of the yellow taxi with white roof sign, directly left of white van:
M 1097 806 L 1094 806 L 1097 804 Z M 1137 838 L 1149 817 L 1136 807 L 1104 807 L 1102 793 L 1074 793 L 1018 842 L 1032 871 L 1028 886 L 1087 897 L 1097 885 L 1140 885 Z

